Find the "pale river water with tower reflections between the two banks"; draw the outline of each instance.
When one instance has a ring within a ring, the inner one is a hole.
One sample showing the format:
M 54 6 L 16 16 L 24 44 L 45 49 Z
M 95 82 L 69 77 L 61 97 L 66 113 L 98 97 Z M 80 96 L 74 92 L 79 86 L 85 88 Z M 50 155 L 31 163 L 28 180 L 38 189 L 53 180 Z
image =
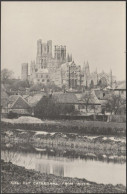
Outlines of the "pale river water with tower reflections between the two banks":
M 48 156 L 40 153 L 16 153 L 14 151 L 2 151 L 1 158 L 7 161 L 8 153 L 10 153 L 9 159 L 12 163 L 42 173 L 85 178 L 89 181 L 104 184 L 126 185 L 126 164 Z

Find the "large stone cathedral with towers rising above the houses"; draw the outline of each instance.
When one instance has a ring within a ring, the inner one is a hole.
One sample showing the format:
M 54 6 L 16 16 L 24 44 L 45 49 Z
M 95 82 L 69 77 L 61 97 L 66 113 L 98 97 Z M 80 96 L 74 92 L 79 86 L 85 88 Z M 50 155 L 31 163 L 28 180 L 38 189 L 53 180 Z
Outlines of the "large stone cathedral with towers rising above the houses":
M 30 73 L 28 75 L 28 63 L 21 67 L 22 80 L 29 80 L 30 83 L 54 83 L 59 87 L 77 89 L 78 87 L 112 87 L 114 78 L 112 71 L 98 73 L 97 70 L 90 73 L 89 63 L 84 63 L 81 68 L 72 60 L 72 55 L 66 54 L 66 46 L 54 46 L 52 54 L 52 41 L 43 43 L 37 41 L 36 61 L 31 61 Z

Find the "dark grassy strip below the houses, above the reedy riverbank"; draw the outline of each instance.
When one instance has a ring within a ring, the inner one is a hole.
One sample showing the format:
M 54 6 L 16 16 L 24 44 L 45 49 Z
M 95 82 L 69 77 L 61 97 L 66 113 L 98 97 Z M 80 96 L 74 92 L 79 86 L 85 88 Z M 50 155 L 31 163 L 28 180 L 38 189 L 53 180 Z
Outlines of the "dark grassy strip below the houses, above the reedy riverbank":
M 126 123 L 83 121 L 83 120 L 59 120 L 44 121 L 41 124 L 9 123 L 1 122 L 1 127 L 25 130 L 42 130 L 47 132 L 67 132 L 91 135 L 126 135 Z

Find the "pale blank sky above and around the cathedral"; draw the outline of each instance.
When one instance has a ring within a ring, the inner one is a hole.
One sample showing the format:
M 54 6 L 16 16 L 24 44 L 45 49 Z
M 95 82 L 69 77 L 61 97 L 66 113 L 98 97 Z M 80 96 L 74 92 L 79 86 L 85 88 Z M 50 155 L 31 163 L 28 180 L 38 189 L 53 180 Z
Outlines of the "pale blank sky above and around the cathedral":
M 1 68 L 21 76 L 21 64 L 36 60 L 38 39 L 66 45 L 91 72 L 112 69 L 117 80 L 126 77 L 124 1 L 1 2 Z

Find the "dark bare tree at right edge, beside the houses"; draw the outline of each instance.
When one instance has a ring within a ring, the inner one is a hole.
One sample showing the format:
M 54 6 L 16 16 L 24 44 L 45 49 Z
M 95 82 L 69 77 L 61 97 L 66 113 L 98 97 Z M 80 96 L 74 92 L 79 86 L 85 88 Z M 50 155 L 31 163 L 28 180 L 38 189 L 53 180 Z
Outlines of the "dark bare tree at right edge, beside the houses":
M 118 114 L 120 112 L 121 106 L 126 104 L 126 100 L 120 95 L 116 95 L 114 92 L 109 96 L 106 108 L 107 111 Z

